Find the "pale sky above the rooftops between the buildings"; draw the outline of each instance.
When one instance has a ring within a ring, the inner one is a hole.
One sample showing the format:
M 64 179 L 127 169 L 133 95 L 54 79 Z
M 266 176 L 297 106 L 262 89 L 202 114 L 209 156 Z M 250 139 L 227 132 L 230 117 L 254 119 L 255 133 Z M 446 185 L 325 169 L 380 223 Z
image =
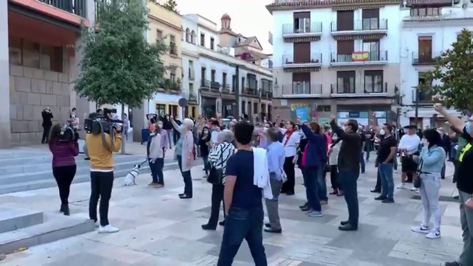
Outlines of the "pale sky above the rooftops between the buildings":
M 265 53 L 272 53 L 268 32 L 273 28 L 273 17 L 266 9 L 272 0 L 176 0 L 181 15 L 199 14 L 217 24 L 227 13 L 231 17 L 231 29 L 246 37 L 258 37 Z

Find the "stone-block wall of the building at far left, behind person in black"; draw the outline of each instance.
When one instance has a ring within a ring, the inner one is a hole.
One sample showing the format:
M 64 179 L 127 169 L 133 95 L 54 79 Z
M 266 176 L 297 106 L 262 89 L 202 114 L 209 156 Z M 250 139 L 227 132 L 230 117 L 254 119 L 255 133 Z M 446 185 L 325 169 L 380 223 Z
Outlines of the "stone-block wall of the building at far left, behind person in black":
M 53 123 L 65 123 L 70 111 L 69 74 L 10 65 L 11 142 L 39 143 L 41 111 L 49 107 Z

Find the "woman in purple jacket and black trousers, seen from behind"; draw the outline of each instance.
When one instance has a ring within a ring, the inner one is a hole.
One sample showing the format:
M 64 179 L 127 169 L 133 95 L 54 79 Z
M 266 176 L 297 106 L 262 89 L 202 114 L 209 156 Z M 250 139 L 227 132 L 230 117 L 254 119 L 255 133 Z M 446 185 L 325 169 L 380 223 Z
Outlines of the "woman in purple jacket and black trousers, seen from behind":
M 61 130 L 70 130 L 70 132 L 61 132 Z M 63 137 L 59 138 L 61 133 L 65 135 L 71 134 L 71 140 L 63 140 Z M 74 136 L 72 129 L 63 129 L 59 124 L 54 125 L 51 128 L 49 137 L 49 150 L 52 153 L 52 173 L 54 179 L 56 179 L 59 197 L 61 198 L 59 212 L 69 215 L 69 190 L 76 170 L 74 157 L 79 153 L 77 138 Z

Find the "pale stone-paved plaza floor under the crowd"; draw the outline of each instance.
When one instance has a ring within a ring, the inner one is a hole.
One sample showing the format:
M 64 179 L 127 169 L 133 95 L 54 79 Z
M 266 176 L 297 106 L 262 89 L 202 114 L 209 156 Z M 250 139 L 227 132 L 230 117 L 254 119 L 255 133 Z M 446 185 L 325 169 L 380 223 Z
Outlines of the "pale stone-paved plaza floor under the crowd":
M 374 157 L 374 155 L 373 155 Z M 452 166 L 448 162 L 447 175 Z M 183 190 L 178 170 L 165 171 L 166 187 L 153 189 L 149 173 L 141 174 L 139 185 L 123 187 L 116 179 L 110 203 L 110 221 L 120 228 L 115 234 L 91 232 L 7 255 L 2 266 L 152 266 L 215 265 L 223 227 L 204 231 L 201 224 L 210 214 L 211 185 L 202 180 L 202 166 L 192 169 L 194 198 L 180 200 Z M 400 173 L 395 173 L 396 181 Z M 395 204 L 373 200 L 370 189 L 376 182 L 373 162 L 360 175 L 360 225 L 357 232 L 341 232 L 339 222 L 347 219 L 342 197 L 329 197 L 324 217 L 310 218 L 299 211 L 305 198 L 297 170 L 295 196 L 281 196 L 282 234 L 263 233 L 271 266 L 428 266 L 455 260 L 462 249 L 458 204 L 448 201 L 454 193 L 451 176 L 442 181 L 442 238 L 429 240 L 410 231 L 423 217 L 422 204 L 409 190 L 397 190 Z M 330 189 L 329 189 L 330 190 Z M 72 216 L 88 217 L 90 185 L 71 187 Z M 19 192 L 0 196 L 0 205 L 57 212 L 57 189 Z M 233 263 L 254 265 L 244 243 Z

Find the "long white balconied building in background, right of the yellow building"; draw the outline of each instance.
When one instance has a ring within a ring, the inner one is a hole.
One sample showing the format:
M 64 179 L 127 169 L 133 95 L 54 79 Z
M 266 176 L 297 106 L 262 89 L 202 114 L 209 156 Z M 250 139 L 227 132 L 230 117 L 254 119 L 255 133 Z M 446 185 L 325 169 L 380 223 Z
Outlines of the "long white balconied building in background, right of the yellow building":
M 199 114 L 207 117 L 258 114 L 261 118 L 269 118 L 271 71 L 234 57 L 233 47 L 220 47 L 219 31 L 214 22 L 196 14 L 184 15 L 184 32 L 187 27 L 191 35 L 196 28 L 196 40 L 194 44 L 183 42 L 183 83 L 188 83 L 189 95 L 194 92 Z M 192 46 L 189 47 L 192 55 L 188 55 L 186 46 Z M 198 61 L 191 58 L 198 58 Z M 189 73 L 194 74 L 193 82 L 186 80 Z

